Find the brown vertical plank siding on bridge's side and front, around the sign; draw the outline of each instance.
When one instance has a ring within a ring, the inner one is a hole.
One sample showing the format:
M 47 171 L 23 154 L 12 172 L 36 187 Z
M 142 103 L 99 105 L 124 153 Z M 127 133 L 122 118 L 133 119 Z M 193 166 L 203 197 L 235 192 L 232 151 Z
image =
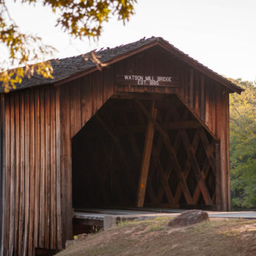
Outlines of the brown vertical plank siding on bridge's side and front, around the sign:
M 178 76 L 180 83 L 178 88 L 119 86 L 116 74 Z M 4 255 L 60 249 L 72 238 L 71 139 L 109 97 L 124 92 L 177 93 L 220 139 L 220 209 L 230 209 L 229 91 L 152 48 L 62 86 L 5 95 Z

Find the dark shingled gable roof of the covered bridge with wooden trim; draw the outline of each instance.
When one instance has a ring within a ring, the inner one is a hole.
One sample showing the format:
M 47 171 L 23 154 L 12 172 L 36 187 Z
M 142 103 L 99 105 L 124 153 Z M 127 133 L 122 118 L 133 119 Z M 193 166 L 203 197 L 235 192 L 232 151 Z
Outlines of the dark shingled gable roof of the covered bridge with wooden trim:
M 229 81 L 228 79 L 225 79 L 223 76 L 220 76 L 216 72 L 213 72 L 213 70 L 202 65 L 197 60 L 194 60 L 189 55 L 183 53 L 181 50 L 175 48 L 175 46 L 170 44 L 168 41 L 162 39 L 161 37 L 140 39 L 139 41 L 128 43 L 126 45 L 100 50 L 95 52 L 95 54 L 97 56 L 100 56 L 100 62 L 108 63 L 109 65 L 111 65 L 114 62 L 118 62 L 119 60 L 128 58 L 130 55 L 134 55 L 156 45 L 159 45 L 162 48 L 168 50 L 168 52 L 175 55 L 175 57 L 180 58 L 180 60 L 183 60 L 184 62 L 187 62 L 189 65 L 191 65 L 195 69 L 198 69 L 203 74 L 210 76 L 215 81 L 222 83 L 222 85 L 229 88 L 231 92 L 241 93 L 241 91 L 243 91 L 243 89 L 236 86 L 236 84 L 231 83 L 231 81 Z M 97 65 L 95 62 L 90 60 L 90 55 L 91 53 L 86 53 L 70 58 L 50 60 L 54 70 L 53 79 L 44 79 L 42 76 L 34 74 L 34 76 L 32 76 L 30 79 L 25 77 L 22 80 L 22 83 L 17 85 L 16 90 L 22 88 L 30 88 L 34 86 L 42 86 L 50 83 L 60 85 L 62 83 L 66 83 L 67 81 L 72 81 L 78 77 L 89 74 L 91 72 L 95 72 L 97 70 Z M 3 88 L 1 88 L 0 90 L 0 93 L 4 92 Z

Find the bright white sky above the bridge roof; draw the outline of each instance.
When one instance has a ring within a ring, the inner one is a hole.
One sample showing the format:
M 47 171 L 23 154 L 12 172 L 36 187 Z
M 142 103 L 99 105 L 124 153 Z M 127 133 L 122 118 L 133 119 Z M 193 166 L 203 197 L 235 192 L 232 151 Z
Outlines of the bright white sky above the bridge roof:
M 161 36 L 219 74 L 256 79 L 255 0 L 137 0 L 130 22 L 123 26 L 113 18 L 98 42 L 70 39 L 46 7 L 7 2 L 22 32 L 36 33 L 58 49 L 53 58 Z

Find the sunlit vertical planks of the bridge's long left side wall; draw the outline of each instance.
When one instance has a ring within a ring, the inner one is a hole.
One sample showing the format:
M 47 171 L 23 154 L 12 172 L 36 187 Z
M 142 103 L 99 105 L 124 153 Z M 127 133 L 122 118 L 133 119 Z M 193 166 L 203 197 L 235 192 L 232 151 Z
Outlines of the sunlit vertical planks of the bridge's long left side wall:
M 56 203 L 60 156 L 55 150 L 60 104 L 55 88 L 17 91 L 5 98 L 4 255 L 34 255 L 36 247 L 61 248 Z

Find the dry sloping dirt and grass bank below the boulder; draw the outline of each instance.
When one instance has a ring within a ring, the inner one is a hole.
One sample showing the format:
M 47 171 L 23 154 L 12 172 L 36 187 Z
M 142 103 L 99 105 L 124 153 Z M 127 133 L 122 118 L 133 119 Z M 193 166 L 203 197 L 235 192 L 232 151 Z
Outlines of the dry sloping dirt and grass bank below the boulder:
M 179 229 L 168 227 L 169 220 L 121 222 L 58 255 L 256 255 L 256 220 L 215 218 Z

